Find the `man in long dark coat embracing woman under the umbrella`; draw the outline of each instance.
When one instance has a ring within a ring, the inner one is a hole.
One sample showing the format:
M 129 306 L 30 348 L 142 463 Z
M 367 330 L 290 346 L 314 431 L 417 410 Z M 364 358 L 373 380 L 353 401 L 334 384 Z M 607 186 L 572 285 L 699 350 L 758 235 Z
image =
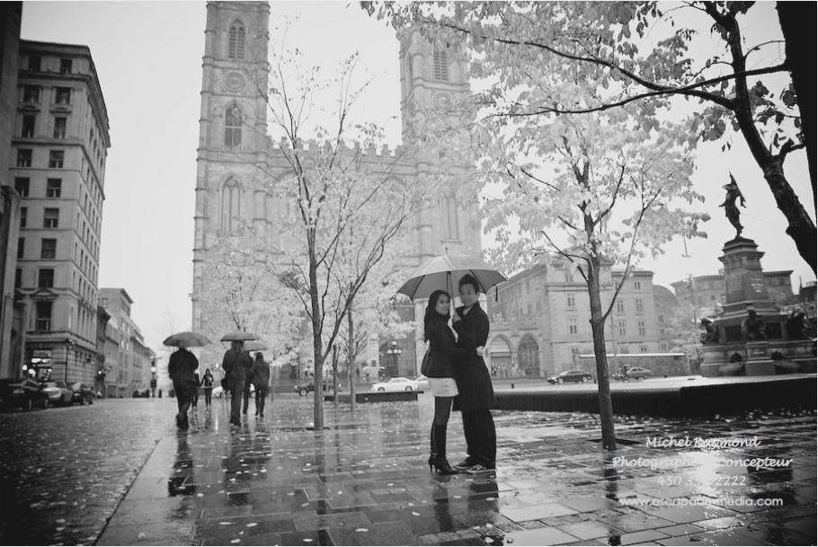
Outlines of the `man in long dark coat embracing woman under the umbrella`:
M 469 351 L 485 348 L 488 340 L 488 315 L 480 307 L 479 285 L 467 274 L 460 278 L 458 291 L 463 304 L 455 310 L 452 326 L 458 333 L 458 346 Z M 482 356 L 482 349 L 478 351 Z M 464 366 L 458 366 L 458 397 L 454 408 L 463 416 L 468 457 L 455 468 L 470 473 L 489 472 L 497 458 L 497 434 L 491 409 L 497 407 L 492 378 L 483 357 L 468 357 Z

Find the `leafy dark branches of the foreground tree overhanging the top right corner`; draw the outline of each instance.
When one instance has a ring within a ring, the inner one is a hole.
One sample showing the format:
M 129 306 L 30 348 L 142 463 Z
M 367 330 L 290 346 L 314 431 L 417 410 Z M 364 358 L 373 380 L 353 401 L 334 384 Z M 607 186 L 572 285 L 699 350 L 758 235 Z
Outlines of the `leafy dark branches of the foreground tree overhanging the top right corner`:
M 685 128 L 691 142 L 717 141 L 727 148 L 734 135 L 741 135 L 787 219 L 787 235 L 815 271 L 814 220 L 785 172 L 787 159 L 806 148 L 809 170 L 801 176 L 812 182 L 814 207 L 814 116 L 809 114 L 814 114 L 815 93 L 814 77 L 808 76 L 809 67 L 814 70 L 814 47 L 804 63 L 799 53 L 805 52 L 796 47 L 801 33 L 792 31 L 792 23 L 799 13 L 803 19 L 814 19 L 815 7 L 814 3 L 779 2 L 786 33 L 778 32 L 773 40 L 756 38 L 754 29 L 746 28 L 746 15 L 769 9 L 770 4 L 364 2 L 362 6 L 398 29 L 420 25 L 432 42 L 465 44 L 472 75 L 478 79 L 499 78 L 507 89 L 517 85 L 529 89 L 511 98 L 494 86 L 491 100 L 501 115 L 569 115 L 627 104 L 638 105 L 649 115 L 669 98 L 687 99 L 675 101 L 673 109 L 692 109 Z M 710 57 L 697 54 L 694 47 L 707 33 L 721 46 Z M 782 50 L 785 40 L 787 48 Z M 596 101 L 577 103 L 570 95 L 552 93 L 549 80 L 554 71 L 566 78 L 592 73 L 591 87 L 582 76 L 573 83 L 594 94 Z

